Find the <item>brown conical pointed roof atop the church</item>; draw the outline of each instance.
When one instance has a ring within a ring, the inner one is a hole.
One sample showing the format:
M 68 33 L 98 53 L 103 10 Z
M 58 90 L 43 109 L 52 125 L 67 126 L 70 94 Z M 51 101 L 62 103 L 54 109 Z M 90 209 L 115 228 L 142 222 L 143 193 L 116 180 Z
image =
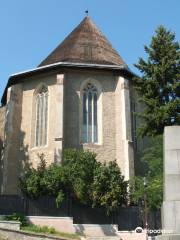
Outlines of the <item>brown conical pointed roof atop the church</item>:
M 58 62 L 126 65 L 90 17 L 85 17 L 39 67 Z

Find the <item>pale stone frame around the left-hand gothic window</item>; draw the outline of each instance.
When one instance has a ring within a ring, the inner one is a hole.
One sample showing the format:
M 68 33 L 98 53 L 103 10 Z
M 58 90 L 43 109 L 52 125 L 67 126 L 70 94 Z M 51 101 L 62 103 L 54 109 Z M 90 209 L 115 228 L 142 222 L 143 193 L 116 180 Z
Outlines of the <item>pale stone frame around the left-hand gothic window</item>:
M 43 89 L 47 89 L 47 129 L 46 129 L 46 143 L 44 145 L 36 145 L 36 124 L 37 124 L 37 95 Z M 49 142 L 49 111 L 50 111 L 50 91 L 49 87 L 45 83 L 40 83 L 33 93 L 33 106 L 32 106 L 32 124 L 31 124 L 31 148 L 32 149 L 40 149 L 46 148 Z

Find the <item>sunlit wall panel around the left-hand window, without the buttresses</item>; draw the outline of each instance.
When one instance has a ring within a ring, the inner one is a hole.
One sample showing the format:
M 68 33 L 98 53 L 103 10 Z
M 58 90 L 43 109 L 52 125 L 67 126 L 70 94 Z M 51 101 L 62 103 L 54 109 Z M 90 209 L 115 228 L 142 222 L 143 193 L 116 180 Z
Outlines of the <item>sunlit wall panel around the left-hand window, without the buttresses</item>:
M 35 78 L 27 78 L 23 84 L 22 97 L 22 146 L 20 158 L 23 161 L 23 168 L 26 165 L 36 167 L 40 161 L 38 155 L 44 154 L 47 164 L 54 162 L 55 135 L 56 135 L 56 112 L 57 104 L 56 81 L 57 75 L 40 75 Z M 48 143 L 44 147 L 35 147 L 35 109 L 34 94 L 38 87 L 45 84 L 49 91 L 49 114 L 48 114 Z M 34 111 L 34 112 L 33 112 Z

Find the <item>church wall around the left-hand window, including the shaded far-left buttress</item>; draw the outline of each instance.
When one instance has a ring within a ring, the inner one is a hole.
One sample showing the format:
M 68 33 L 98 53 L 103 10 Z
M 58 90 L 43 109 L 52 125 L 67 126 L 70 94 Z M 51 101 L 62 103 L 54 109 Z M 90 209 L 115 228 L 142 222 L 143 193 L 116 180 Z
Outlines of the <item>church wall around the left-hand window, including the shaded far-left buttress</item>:
M 39 154 L 44 153 L 47 164 L 54 162 L 57 74 L 46 74 L 37 77 L 27 77 L 21 84 L 13 85 L 8 90 L 6 116 L 6 148 L 4 152 L 3 193 L 17 194 L 18 179 L 27 166 L 36 167 L 40 162 Z M 35 147 L 35 115 L 34 94 L 36 89 L 45 84 L 49 90 L 48 144 L 45 147 Z M 1 113 L 1 112 L 0 112 Z M 0 115 L 1 117 L 1 115 Z M 1 132 L 0 132 L 1 133 Z

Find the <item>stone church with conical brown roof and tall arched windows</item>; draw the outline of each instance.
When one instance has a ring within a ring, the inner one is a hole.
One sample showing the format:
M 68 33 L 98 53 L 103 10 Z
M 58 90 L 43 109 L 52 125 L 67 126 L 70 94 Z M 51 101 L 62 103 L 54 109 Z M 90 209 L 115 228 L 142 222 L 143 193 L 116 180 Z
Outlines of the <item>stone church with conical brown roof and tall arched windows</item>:
M 10 76 L 0 107 L 0 192 L 17 194 L 27 165 L 93 151 L 134 175 L 133 73 L 90 17 L 38 67 Z

